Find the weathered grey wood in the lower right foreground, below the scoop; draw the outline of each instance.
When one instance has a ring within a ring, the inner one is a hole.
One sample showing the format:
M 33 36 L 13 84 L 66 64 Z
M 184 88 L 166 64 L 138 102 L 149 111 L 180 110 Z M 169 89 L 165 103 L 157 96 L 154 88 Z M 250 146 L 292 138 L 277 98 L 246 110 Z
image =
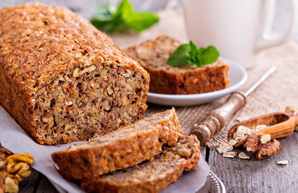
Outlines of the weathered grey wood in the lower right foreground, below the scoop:
M 234 149 L 250 156 L 249 160 L 226 158 L 215 148 L 209 153 L 210 169 L 223 181 L 226 192 L 297 192 L 298 190 L 298 132 L 279 139 L 280 150 L 274 156 L 257 160 L 244 148 Z M 216 153 L 215 153 L 216 152 Z M 288 160 L 287 165 L 277 162 Z

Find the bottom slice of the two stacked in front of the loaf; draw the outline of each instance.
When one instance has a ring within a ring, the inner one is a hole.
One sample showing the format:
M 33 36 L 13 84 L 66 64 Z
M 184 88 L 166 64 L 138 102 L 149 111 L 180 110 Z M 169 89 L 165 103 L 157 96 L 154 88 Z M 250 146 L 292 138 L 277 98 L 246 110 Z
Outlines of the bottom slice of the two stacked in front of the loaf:
M 160 192 L 177 181 L 183 171 L 195 170 L 200 159 L 200 143 L 195 135 L 184 136 L 167 146 L 152 161 L 105 175 L 84 178 L 86 192 Z

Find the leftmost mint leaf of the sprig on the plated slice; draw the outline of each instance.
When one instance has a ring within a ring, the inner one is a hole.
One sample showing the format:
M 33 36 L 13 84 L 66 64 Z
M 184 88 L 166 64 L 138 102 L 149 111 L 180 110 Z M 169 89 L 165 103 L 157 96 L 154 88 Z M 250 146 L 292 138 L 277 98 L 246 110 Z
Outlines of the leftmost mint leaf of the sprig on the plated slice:
M 182 44 L 180 45 L 175 52 L 169 57 L 167 63 L 171 66 L 180 66 L 183 64 L 187 64 L 190 58 L 190 45 Z

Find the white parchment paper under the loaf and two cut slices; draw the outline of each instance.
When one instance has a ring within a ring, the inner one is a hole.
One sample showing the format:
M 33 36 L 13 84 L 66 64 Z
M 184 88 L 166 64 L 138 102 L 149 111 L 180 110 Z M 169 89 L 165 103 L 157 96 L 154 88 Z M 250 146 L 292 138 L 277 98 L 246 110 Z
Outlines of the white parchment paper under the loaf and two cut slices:
M 71 183 L 60 176 L 53 166 L 54 162 L 50 156 L 52 152 L 68 148 L 74 143 L 79 145 L 81 142 L 61 144 L 60 147 L 57 145 L 37 144 L 2 106 L 0 106 L 0 142 L 3 147 L 9 149 L 13 153 L 29 152 L 34 156 L 34 163 L 31 166 L 67 192 L 84 192 L 80 186 Z M 163 191 L 163 193 L 196 192 L 204 185 L 208 173 L 209 166 L 201 156 L 196 170 L 184 173 L 176 183 L 171 184 Z

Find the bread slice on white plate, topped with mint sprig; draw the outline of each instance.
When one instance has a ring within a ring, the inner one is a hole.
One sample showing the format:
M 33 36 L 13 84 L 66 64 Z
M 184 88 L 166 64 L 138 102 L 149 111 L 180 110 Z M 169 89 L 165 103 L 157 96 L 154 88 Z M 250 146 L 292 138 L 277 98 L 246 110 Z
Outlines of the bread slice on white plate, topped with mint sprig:
M 124 51 L 139 61 L 150 74 L 150 92 L 162 94 L 197 94 L 229 87 L 228 63 L 217 60 L 201 68 L 195 65 L 170 66 L 167 60 L 181 43 L 161 35 Z

